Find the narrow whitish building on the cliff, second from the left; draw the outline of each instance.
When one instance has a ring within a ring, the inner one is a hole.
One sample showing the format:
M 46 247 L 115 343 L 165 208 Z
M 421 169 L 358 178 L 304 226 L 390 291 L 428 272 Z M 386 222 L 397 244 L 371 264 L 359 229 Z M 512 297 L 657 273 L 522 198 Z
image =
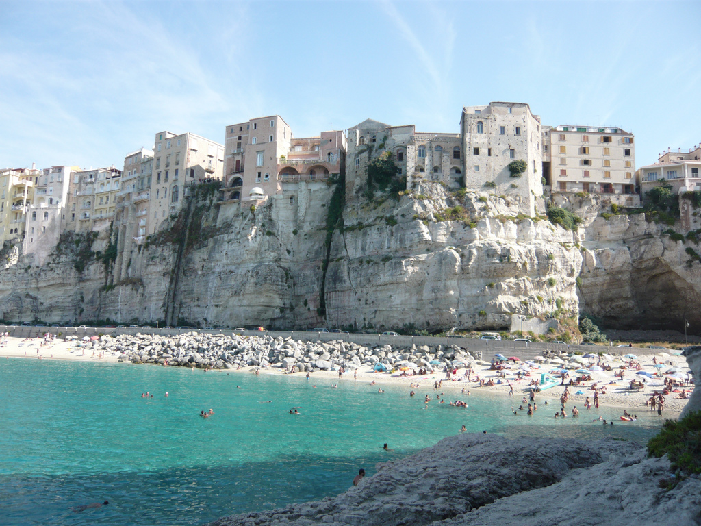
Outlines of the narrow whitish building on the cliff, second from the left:
M 34 254 L 34 262 L 42 264 L 53 250 L 67 218 L 67 198 L 71 175 L 77 166 L 52 166 L 34 178 L 34 198 L 25 218 L 25 240 L 22 252 Z

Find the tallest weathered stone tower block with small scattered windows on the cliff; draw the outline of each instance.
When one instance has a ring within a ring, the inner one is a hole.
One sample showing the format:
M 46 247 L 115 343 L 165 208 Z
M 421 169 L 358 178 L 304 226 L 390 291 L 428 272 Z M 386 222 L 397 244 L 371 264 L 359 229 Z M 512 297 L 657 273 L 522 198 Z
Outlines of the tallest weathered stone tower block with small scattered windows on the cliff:
M 463 107 L 460 120 L 465 153 L 465 187 L 508 196 L 522 213 L 543 213 L 543 151 L 540 117 L 522 102 Z M 513 161 L 526 170 L 513 177 Z

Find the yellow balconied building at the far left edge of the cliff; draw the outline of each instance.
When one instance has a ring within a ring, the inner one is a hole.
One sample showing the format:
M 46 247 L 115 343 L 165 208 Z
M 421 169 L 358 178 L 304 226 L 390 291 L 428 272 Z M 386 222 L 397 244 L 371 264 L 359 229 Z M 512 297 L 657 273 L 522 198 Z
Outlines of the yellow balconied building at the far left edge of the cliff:
M 41 170 L 34 166 L 0 170 L 0 246 L 5 241 L 22 241 L 39 175 Z

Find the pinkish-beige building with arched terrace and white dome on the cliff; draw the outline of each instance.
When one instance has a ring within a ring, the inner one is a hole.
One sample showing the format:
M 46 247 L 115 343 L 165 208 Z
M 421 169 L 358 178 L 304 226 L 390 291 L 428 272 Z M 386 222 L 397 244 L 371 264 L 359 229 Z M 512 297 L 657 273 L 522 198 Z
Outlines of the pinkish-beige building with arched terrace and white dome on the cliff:
M 341 173 L 343 131 L 294 138 L 279 115 L 226 126 L 224 203 L 261 201 L 280 194 L 283 182 L 326 180 Z

